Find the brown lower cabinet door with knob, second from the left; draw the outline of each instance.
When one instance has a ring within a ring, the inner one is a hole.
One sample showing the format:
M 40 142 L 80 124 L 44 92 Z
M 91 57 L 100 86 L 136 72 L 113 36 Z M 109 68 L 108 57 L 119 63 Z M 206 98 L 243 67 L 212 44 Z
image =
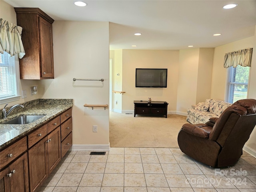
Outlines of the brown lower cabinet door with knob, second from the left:
M 10 166 L 11 192 L 29 192 L 28 185 L 28 154 L 25 153 Z

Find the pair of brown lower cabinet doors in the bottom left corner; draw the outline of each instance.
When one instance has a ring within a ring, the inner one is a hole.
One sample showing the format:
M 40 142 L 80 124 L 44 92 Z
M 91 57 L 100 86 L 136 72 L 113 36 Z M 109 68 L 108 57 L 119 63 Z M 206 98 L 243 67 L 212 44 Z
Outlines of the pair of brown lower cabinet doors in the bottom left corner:
M 1 192 L 29 192 L 27 152 L 0 172 Z

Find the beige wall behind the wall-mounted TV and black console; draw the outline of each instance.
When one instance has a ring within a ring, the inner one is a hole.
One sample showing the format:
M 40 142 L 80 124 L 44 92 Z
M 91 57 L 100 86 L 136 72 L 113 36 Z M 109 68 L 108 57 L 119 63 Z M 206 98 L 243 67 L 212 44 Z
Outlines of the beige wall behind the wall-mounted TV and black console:
M 178 50 L 122 50 L 122 112 L 134 109 L 134 100 L 167 101 L 168 111 L 176 110 Z M 167 88 L 136 88 L 136 68 L 167 68 Z

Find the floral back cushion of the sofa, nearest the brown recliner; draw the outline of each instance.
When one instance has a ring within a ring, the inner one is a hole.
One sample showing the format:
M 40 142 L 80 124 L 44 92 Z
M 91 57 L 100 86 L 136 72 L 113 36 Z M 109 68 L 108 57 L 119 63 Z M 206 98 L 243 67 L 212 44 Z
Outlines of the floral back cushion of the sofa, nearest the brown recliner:
M 225 101 L 210 99 L 210 106 L 208 111 L 219 117 L 222 114 L 222 112 L 231 105 L 231 103 Z

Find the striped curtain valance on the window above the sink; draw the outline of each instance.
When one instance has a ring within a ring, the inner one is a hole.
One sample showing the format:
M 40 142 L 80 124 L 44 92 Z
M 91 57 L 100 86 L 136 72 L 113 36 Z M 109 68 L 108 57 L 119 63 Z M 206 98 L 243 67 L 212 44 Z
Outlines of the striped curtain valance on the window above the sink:
M 25 50 L 21 40 L 22 27 L 0 19 L 0 53 L 8 52 L 10 56 L 19 54 L 23 58 Z

